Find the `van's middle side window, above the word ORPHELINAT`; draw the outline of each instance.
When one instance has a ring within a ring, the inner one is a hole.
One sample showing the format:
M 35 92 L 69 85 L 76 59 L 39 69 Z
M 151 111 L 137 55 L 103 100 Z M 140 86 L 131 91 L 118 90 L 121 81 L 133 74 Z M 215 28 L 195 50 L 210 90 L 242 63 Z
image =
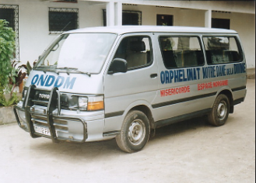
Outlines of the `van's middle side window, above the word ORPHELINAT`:
M 160 36 L 160 47 L 167 68 L 198 67 L 205 64 L 198 37 Z

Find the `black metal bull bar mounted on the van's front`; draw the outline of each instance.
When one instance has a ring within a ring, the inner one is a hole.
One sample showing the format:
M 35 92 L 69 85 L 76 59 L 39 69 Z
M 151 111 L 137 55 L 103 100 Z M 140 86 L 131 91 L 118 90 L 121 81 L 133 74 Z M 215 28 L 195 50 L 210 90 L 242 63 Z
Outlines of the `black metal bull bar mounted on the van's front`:
M 37 95 L 40 92 L 47 93 L 44 100 L 38 99 Z M 51 138 L 53 142 L 65 140 L 74 143 L 84 143 L 87 138 L 86 122 L 82 116 L 61 115 L 61 93 L 56 87 L 51 91 L 45 91 L 35 85 L 30 85 L 23 106 L 16 105 L 13 111 L 19 127 L 29 132 L 33 138 L 44 136 Z M 24 119 L 20 119 L 18 111 L 23 112 L 26 122 Z M 20 120 L 23 120 L 26 125 L 22 125 Z M 35 126 L 36 128 L 37 126 L 45 127 L 51 134 L 37 133 Z

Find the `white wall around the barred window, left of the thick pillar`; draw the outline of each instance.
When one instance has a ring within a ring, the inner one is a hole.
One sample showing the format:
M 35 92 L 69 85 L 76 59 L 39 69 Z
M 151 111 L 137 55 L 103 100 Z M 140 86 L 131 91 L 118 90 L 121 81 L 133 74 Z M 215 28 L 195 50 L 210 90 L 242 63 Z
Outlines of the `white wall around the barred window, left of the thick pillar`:
M 20 60 L 33 63 L 58 35 L 49 34 L 49 7 L 79 9 L 79 27 L 102 26 L 102 7 L 88 2 L 23 2 L 19 5 Z

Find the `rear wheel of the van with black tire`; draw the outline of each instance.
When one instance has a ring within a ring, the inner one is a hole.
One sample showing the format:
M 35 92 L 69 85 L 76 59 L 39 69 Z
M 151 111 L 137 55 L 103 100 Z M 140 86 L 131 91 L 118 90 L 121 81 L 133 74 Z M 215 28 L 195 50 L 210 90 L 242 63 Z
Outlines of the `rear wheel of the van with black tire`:
M 208 115 L 209 123 L 213 126 L 222 126 L 226 123 L 230 113 L 230 100 L 226 95 L 218 95 L 213 106 L 212 111 Z

